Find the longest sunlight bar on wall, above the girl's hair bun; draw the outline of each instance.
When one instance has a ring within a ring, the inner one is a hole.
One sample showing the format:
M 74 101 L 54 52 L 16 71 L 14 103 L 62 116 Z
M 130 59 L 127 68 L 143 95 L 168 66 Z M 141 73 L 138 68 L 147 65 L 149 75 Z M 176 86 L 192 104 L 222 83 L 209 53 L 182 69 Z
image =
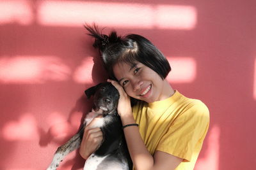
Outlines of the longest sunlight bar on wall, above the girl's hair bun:
M 81 1 L 43 1 L 38 8 L 42 25 L 81 27 L 85 22 L 141 29 L 193 29 L 193 6 Z

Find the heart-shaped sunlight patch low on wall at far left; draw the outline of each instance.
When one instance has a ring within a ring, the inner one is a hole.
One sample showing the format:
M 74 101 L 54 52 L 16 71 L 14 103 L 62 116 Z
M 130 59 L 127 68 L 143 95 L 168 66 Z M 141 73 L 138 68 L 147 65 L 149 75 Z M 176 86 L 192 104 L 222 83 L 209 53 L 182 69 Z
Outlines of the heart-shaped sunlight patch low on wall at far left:
M 8 141 L 28 141 L 37 135 L 36 119 L 31 113 L 22 115 L 17 121 L 6 122 L 2 129 L 2 136 Z

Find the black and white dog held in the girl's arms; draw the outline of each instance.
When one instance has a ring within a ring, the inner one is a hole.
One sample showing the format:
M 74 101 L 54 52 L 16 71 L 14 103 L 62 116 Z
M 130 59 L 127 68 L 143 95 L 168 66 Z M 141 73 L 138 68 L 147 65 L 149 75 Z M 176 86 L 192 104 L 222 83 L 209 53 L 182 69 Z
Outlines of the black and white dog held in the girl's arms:
M 132 160 L 122 131 L 122 122 L 116 110 L 119 99 L 118 91 L 111 83 L 106 82 L 90 87 L 84 92 L 88 98 L 93 96 L 92 112 L 86 115 L 77 134 L 58 147 L 47 170 L 56 169 L 68 153 L 79 148 L 84 127 L 99 114 L 102 114 L 102 118 L 96 122 L 95 127 L 100 127 L 104 139 L 99 148 L 86 159 L 84 170 L 132 169 Z

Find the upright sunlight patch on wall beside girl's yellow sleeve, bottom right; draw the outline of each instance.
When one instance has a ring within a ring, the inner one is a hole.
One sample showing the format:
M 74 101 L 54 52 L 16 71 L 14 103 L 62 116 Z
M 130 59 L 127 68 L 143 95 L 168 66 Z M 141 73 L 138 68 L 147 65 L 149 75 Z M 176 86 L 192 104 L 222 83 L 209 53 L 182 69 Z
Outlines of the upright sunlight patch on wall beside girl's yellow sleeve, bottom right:
M 207 150 L 205 157 L 196 162 L 195 170 L 205 169 L 218 170 L 220 157 L 220 127 L 214 125 L 208 134 L 208 142 L 205 143 Z

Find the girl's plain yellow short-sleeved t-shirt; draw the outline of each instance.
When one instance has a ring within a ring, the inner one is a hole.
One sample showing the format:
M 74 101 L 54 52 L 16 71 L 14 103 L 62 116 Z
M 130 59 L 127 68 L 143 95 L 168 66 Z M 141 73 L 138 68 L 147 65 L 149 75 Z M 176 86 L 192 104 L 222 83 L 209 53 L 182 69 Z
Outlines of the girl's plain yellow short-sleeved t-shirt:
M 209 127 L 209 110 L 202 101 L 173 96 L 132 108 L 148 151 L 170 153 L 183 161 L 175 170 L 192 170 Z

